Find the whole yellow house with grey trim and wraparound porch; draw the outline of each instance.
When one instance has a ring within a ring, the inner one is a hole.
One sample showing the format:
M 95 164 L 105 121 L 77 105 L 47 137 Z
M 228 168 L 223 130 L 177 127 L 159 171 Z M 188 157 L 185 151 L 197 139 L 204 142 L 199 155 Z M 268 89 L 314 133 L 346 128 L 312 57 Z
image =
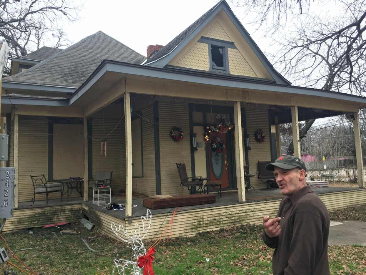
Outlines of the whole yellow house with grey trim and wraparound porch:
M 224 0 L 167 45 L 150 45 L 147 58 L 103 32 L 44 52 L 37 63 L 30 63 L 32 54 L 37 52 L 13 59 L 12 75 L 2 83 L 7 165 L 16 169 L 14 217 L 4 230 L 85 216 L 112 236 L 112 221 L 127 227 L 141 222 L 144 195 L 188 194 L 176 163 L 186 164 L 188 176 L 220 181 L 223 195 L 211 205 L 181 208 L 172 236 L 259 223 L 277 212 L 281 200 L 276 190 L 259 191 L 266 183 L 258 179 L 258 161 L 273 160 L 276 148 L 281 152 L 271 125 L 345 113 L 354 117 L 359 188 L 317 193 L 329 210 L 365 203 L 358 111 L 366 98 L 291 85 Z M 181 131 L 176 142 L 171 133 Z M 300 156 L 297 126 L 293 137 Z M 214 163 L 215 144 L 220 152 Z M 125 211 L 91 202 L 85 183 L 100 171 L 113 171 L 113 199 L 125 203 Z M 84 184 L 63 201 L 53 192 L 46 202 L 44 194 L 34 195 L 30 175 L 45 175 L 49 183 L 80 177 Z M 151 236 L 158 236 L 171 209 L 152 213 Z

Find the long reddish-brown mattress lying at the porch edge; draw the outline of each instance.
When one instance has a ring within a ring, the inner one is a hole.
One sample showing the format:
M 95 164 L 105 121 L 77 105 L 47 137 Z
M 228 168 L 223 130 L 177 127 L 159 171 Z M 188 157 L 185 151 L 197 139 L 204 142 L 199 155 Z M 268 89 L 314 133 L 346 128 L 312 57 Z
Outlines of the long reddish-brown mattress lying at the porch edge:
M 173 208 L 179 206 L 191 206 L 215 203 L 216 195 L 194 194 L 179 195 L 170 199 L 143 199 L 142 205 L 150 209 Z

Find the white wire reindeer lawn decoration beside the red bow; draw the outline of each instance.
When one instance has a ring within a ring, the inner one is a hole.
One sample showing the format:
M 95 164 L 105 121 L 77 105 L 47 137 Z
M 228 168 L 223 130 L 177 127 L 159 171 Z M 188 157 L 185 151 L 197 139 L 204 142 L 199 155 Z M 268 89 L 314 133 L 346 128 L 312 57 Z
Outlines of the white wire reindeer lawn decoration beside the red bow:
M 131 260 L 124 259 L 114 259 L 114 267 L 112 274 L 119 275 L 141 275 L 142 268 L 137 264 L 139 257 L 146 254 L 146 248 L 142 240 L 145 238 L 147 232 L 149 231 L 151 225 L 152 215 L 149 209 L 147 209 L 146 216 L 141 216 L 142 227 L 135 224 L 135 228 L 130 230 L 130 228 L 123 227 L 122 224 L 117 228 L 115 223 L 111 223 L 111 229 L 116 234 L 116 236 L 122 241 L 130 244 L 132 249 Z M 118 273 L 115 273 L 118 272 Z

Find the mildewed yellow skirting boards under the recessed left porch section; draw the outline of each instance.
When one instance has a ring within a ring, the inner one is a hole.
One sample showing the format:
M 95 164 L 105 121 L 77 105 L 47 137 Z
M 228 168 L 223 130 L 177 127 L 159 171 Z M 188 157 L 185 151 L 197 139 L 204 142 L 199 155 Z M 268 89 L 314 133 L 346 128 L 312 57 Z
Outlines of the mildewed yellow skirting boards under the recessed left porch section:
M 14 216 L 6 220 L 2 232 L 29 227 L 42 227 L 52 223 L 77 223 L 81 218 L 81 203 L 32 209 L 15 209 Z

